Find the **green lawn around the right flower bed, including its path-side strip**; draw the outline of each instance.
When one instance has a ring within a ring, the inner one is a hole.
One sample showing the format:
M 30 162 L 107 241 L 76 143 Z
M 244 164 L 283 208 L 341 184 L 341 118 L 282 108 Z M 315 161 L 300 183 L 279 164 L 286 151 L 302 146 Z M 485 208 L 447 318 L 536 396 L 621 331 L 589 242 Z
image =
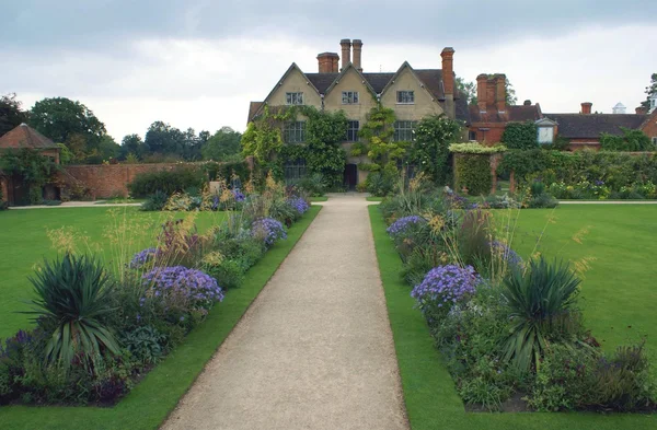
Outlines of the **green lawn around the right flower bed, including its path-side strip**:
M 465 412 L 427 325 L 414 309 L 411 288 L 400 278 L 402 263 L 385 233 L 379 208 L 371 206 L 369 210 L 404 400 L 414 430 L 657 428 L 654 415 Z M 655 351 L 657 290 L 653 286 L 657 270 L 652 258 L 657 253 L 657 207 L 574 205 L 554 211 L 522 210 L 514 247 L 523 257 L 530 255 L 544 228 L 539 248 L 544 255 L 596 258 L 586 272 L 581 302 L 593 336 L 604 348 L 613 349 L 649 335 L 648 348 Z M 577 235 L 581 229 L 588 234 Z M 657 365 L 657 360 L 654 362 Z

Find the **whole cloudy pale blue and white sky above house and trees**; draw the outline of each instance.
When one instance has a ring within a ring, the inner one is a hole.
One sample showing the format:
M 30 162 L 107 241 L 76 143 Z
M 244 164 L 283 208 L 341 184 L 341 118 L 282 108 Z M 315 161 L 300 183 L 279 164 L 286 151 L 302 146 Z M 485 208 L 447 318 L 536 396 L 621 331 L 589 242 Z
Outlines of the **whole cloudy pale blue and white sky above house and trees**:
M 656 0 L 0 0 L 0 94 L 26 108 L 79 100 L 117 141 L 154 120 L 242 131 L 250 101 L 292 61 L 316 72 L 341 38 L 362 39 L 365 71 L 440 68 L 452 46 L 458 75 L 504 72 L 543 112 L 634 113 L 657 72 Z

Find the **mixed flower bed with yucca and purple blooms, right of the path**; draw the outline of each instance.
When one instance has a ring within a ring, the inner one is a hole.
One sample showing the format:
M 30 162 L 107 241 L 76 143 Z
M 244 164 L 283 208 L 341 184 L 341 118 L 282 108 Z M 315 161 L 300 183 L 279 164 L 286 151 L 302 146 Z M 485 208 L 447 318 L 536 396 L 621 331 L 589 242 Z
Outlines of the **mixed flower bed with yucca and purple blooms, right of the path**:
M 600 349 L 583 323 L 570 266 L 523 262 L 487 212 L 453 202 L 412 187 L 380 209 L 414 286 L 408 294 L 468 408 L 654 411 L 644 344 Z M 423 229 L 407 228 L 419 219 Z

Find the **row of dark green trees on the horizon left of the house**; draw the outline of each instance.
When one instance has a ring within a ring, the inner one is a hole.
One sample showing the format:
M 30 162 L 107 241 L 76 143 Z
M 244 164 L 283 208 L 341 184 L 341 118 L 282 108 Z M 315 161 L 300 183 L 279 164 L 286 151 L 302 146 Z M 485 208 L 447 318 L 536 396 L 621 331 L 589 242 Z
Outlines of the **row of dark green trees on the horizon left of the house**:
M 145 138 L 125 136 L 118 144 L 91 109 L 66 97 L 44 98 L 24 111 L 15 94 L 0 96 L 0 137 L 26 123 L 61 147 L 62 163 L 157 163 L 171 161 L 232 161 L 240 158 L 242 135 L 222 127 L 214 135 L 181 130 L 154 121 Z

